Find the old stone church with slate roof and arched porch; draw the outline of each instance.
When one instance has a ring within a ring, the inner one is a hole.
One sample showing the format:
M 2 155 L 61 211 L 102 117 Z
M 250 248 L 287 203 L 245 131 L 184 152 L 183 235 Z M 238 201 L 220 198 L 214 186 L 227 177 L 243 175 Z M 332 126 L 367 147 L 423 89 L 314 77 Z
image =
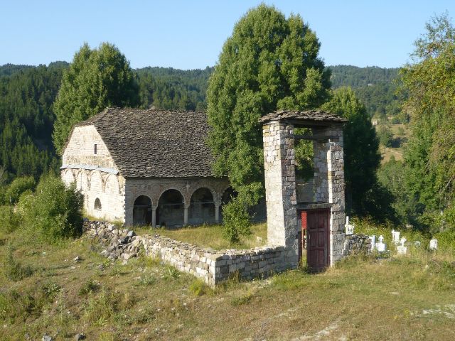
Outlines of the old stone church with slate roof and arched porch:
M 74 126 L 61 176 L 97 219 L 152 226 L 220 222 L 233 194 L 213 175 L 203 112 L 107 108 Z

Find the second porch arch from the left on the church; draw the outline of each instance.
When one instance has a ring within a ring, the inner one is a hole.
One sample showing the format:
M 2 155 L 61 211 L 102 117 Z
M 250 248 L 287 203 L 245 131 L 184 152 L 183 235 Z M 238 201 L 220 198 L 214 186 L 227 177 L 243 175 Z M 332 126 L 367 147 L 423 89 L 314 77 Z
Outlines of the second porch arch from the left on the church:
M 182 226 L 185 223 L 185 197 L 179 190 L 169 188 L 159 196 L 156 224 Z

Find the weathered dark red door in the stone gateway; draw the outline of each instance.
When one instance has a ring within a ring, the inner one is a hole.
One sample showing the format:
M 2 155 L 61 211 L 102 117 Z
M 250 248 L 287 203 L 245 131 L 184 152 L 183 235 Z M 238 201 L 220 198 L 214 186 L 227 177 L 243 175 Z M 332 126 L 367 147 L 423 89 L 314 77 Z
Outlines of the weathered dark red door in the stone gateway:
M 322 271 L 330 264 L 330 210 L 302 211 L 301 225 L 306 229 L 306 264 Z

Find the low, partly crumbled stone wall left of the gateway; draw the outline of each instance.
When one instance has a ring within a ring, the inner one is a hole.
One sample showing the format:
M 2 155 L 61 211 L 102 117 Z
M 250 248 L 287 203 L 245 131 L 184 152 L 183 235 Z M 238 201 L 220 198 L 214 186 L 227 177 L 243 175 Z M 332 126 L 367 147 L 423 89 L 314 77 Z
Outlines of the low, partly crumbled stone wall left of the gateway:
M 247 250 L 215 251 L 196 245 L 117 228 L 106 222 L 86 222 L 89 237 L 97 238 L 105 247 L 102 254 L 109 259 L 130 259 L 139 255 L 144 247 L 147 256 L 159 257 L 176 269 L 203 279 L 214 286 L 238 273 L 243 279 L 266 277 L 286 269 L 296 268 L 296 251 L 285 247 L 261 247 Z

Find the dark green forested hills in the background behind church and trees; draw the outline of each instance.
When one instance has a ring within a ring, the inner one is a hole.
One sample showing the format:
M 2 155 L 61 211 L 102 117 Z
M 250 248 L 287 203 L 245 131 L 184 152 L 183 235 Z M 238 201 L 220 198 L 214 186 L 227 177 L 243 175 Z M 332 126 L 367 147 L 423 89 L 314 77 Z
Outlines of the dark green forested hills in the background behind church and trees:
M 38 177 L 45 169 L 58 165 L 52 144 L 53 102 L 66 67 L 66 62 L 48 66 L 0 65 L 0 168 L 9 174 L 6 182 L 16 175 Z M 346 65 L 330 68 L 333 87 L 353 87 L 371 116 L 398 114 L 400 99 L 392 82 L 397 69 Z M 205 92 L 213 67 L 144 67 L 134 72 L 140 107 L 205 109 Z

